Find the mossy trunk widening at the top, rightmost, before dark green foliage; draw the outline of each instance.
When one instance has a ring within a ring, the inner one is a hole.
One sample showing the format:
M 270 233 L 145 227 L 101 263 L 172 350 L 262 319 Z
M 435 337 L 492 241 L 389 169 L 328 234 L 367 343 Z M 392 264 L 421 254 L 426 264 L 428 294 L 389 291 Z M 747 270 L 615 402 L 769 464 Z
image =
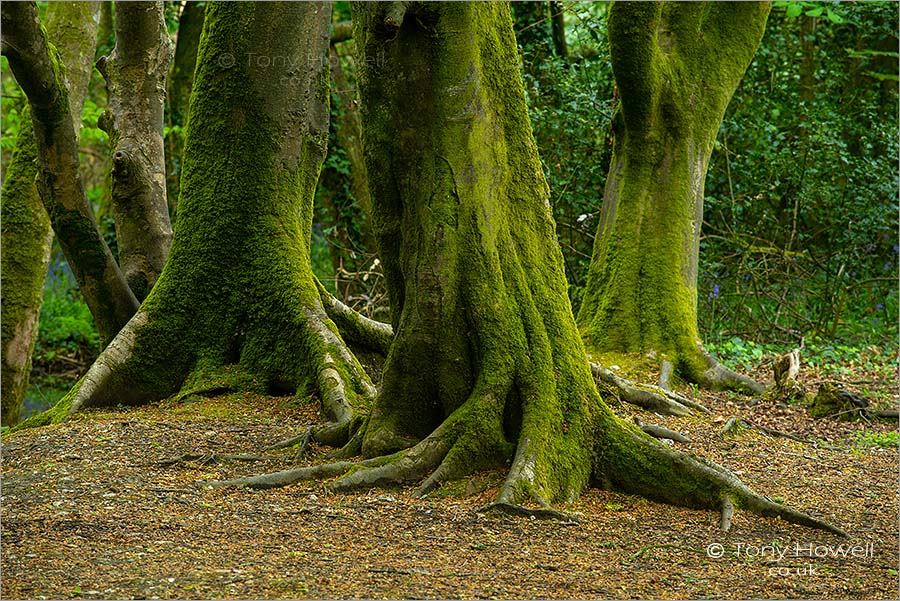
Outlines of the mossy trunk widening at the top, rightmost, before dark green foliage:
M 621 104 L 578 323 L 590 350 L 650 353 L 712 388 L 761 391 L 719 366 L 697 329 L 703 182 L 767 2 L 616 2 Z

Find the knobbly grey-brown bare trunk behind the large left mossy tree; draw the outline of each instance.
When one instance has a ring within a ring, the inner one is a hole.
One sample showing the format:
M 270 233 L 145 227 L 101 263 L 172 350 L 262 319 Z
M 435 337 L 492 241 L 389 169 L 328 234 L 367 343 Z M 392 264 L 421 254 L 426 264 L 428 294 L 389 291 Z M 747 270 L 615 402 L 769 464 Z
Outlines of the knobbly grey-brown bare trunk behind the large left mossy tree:
M 115 149 L 112 208 L 119 267 L 138 300 L 159 278 L 172 241 L 163 144 L 171 60 L 163 3 L 116 2 L 116 47 L 97 61 L 109 97 L 100 126 Z

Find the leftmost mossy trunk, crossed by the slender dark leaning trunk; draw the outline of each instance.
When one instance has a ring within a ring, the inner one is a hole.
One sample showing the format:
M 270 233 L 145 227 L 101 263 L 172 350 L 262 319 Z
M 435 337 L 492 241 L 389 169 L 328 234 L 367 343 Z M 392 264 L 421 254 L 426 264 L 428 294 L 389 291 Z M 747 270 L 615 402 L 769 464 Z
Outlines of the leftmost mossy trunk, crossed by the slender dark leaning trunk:
M 99 2 L 54 2 L 47 7 L 46 28 L 66 65 L 69 105 L 76 129 L 91 74 L 99 8 Z M 28 389 L 44 280 L 50 264 L 53 231 L 38 193 L 37 175 L 37 144 L 31 112 L 26 106 L 0 197 L 3 425 L 18 421 Z

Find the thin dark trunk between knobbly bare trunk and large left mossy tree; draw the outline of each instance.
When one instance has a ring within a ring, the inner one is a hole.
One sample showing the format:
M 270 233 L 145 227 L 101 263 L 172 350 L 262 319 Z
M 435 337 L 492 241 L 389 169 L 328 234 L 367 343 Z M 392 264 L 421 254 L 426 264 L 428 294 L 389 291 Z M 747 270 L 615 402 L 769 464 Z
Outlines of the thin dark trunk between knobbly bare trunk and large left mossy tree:
M 166 198 L 169 212 L 178 209 L 178 187 L 181 180 L 181 156 L 184 148 L 184 128 L 190 114 L 191 90 L 194 86 L 194 70 L 197 67 L 197 51 L 206 5 L 188 0 L 181 9 L 178 20 L 178 40 L 169 76 L 169 133 L 166 136 Z

